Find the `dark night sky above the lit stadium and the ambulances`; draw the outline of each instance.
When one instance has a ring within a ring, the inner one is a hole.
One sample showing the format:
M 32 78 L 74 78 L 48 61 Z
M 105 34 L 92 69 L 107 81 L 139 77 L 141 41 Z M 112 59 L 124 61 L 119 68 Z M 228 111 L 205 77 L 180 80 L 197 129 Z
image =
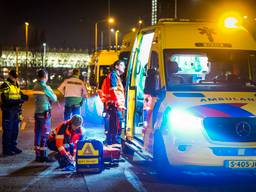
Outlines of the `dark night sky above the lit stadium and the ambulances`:
M 213 18 L 228 9 L 255 17 L 256 0 L 178 0 L 178 16 L 182 18 Z M 110 1 L 110 13 L 117 20 L 114 28 L 121 34 L 139 18 L 149 24 L 150 11 L 151 0 Z M 24 23 L 28 21 L 30 35 L 40 34 L 51 48 L 91 50 L 94 24 L 107 15 L 107 0 L 0 0 L 0 44 L 25 47 Z M 104 25 L 100 25 L 102 30 Z

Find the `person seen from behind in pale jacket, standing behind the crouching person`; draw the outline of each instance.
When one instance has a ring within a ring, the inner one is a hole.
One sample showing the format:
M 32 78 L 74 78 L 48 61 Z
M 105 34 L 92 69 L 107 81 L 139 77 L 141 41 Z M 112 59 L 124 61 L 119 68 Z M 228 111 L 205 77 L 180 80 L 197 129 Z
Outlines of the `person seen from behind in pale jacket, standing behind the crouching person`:
M 74 69 L 72 76 L 65 79 L 58 87 L 58 90 L 64 95 L 65 110 L 64 119 L 68 120 L 71 114 L 80 114 L 83 99 L 87 97 L 84 82 L 79 79 L 80 70 Z

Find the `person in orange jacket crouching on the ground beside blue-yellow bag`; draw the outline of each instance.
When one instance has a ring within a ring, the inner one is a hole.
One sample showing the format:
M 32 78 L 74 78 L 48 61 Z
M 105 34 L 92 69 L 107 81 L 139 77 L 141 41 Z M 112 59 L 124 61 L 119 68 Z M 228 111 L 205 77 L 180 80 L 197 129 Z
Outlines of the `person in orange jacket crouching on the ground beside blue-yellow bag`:
M 48 148 L 58 152 L 56 159 L 60 168 L 64 168 L 65 171 L 75 170 L 77 142 L 82 139 L 83 135 L 82 123 L 82 116 L 74 115 L 70 120 L 62 122 L 49 134 Z

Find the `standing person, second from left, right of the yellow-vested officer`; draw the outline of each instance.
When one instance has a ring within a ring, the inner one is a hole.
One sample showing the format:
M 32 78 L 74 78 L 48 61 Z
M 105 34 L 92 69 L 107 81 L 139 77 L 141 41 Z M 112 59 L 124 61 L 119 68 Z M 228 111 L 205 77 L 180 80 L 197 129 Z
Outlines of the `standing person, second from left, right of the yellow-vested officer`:
M 51 104 L 57 101 L 57 96 L 47 85 L 48 73 L 46 70 L 37 72 L 38 82 L 34 86 L 35 96 L 35 137 L 34 149 L 36 161 L 52 162 L 47 156 L 47 138 L 51 130 Z

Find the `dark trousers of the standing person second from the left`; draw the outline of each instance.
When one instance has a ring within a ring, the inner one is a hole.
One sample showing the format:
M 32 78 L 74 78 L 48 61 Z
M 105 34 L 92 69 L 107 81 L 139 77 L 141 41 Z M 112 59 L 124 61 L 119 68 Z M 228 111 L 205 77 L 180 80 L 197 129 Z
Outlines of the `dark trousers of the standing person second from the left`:
M 51 114 L 35 113 L 34 147 L 36 157 L 47 157 L 47 138 L 51 130 Z

